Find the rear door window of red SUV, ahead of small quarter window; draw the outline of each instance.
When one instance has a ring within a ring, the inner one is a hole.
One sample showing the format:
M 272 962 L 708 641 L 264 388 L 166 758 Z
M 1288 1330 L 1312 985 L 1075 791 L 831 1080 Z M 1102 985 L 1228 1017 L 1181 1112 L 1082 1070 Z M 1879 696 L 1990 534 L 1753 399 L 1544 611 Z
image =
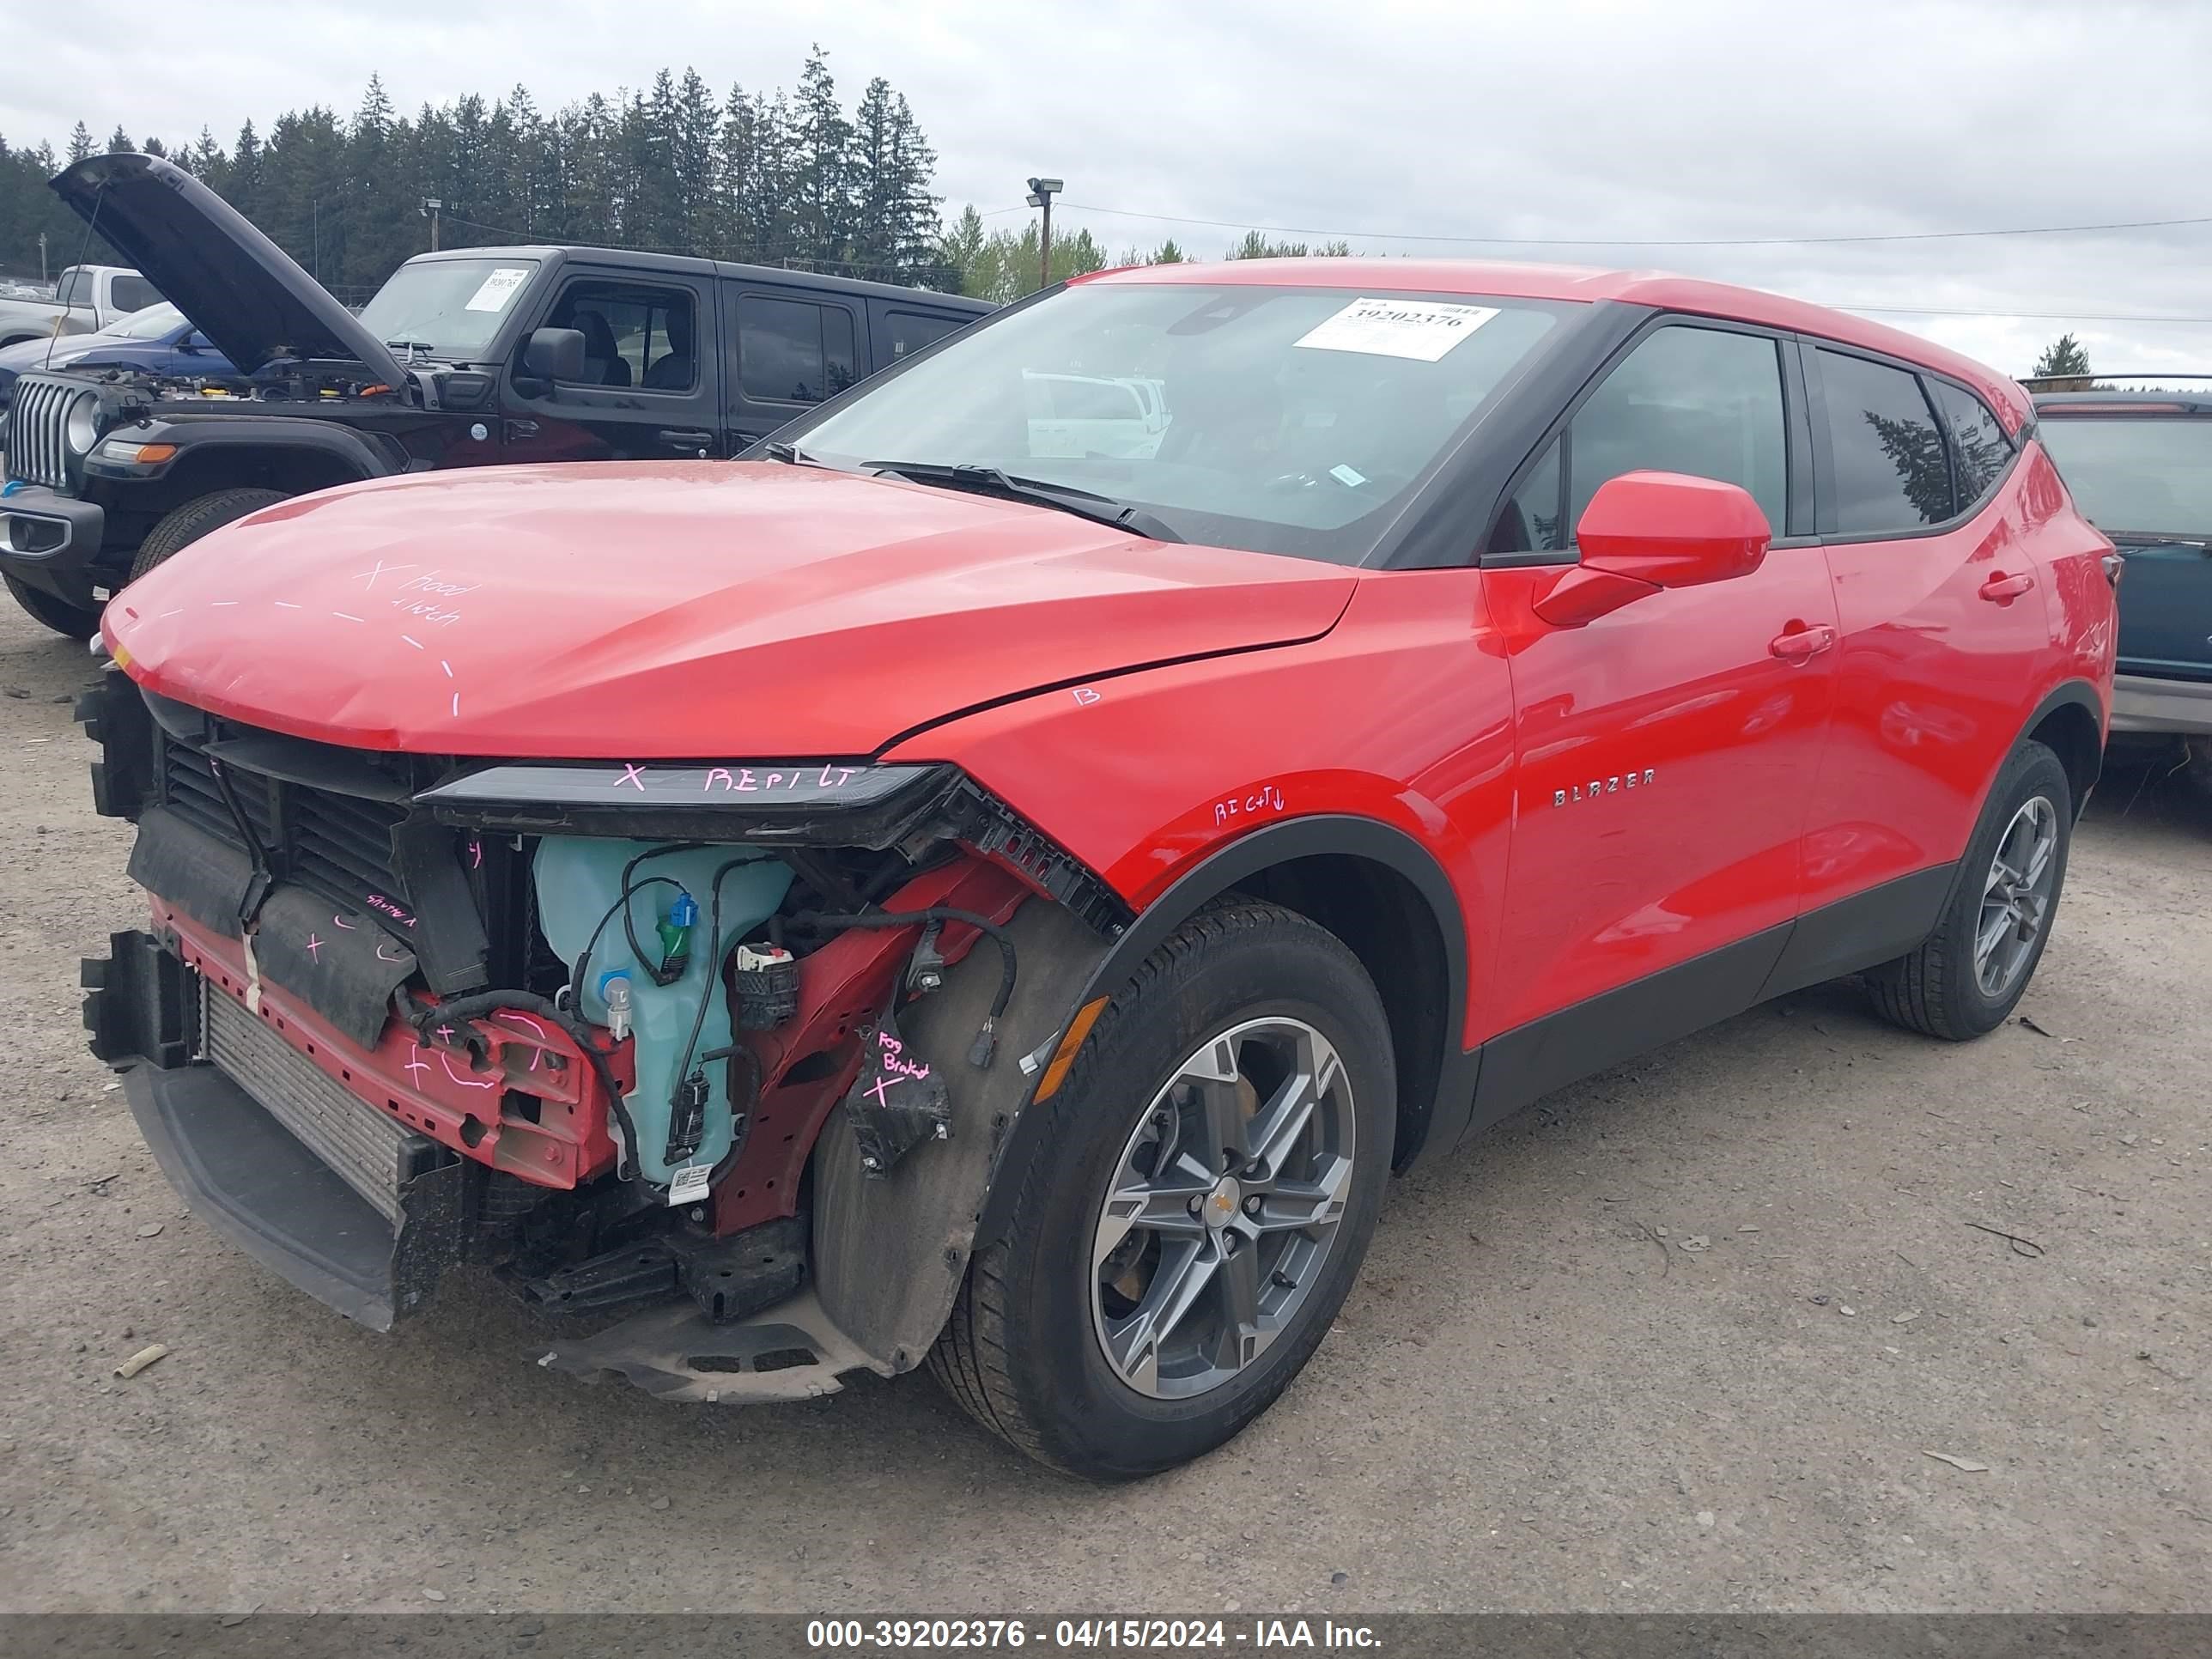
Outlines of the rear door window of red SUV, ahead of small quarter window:
M 1896 535 L 1951 518 L 1951 462 L 1920 378 L 1820 349 L 1836 531 Z

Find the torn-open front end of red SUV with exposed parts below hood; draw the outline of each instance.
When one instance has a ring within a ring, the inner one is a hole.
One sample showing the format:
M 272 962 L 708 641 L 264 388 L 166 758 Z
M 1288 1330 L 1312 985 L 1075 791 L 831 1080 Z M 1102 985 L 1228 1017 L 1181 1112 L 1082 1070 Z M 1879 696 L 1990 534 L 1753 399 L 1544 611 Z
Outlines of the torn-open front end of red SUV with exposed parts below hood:
M 1128 920 L 940 765 L 345 750 L 122 670 L 80 717 L 150 894 L 86 1029 L 195 1212 L 376 1329 L 487 1265 L 670 1398 L 922 1358 Z

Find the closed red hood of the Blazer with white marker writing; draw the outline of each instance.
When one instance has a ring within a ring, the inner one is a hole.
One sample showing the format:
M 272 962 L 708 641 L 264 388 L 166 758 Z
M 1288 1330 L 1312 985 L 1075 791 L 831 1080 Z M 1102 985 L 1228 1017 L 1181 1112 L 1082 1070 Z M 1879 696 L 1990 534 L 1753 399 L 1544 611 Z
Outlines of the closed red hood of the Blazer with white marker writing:
M 845 757 L 1312 639 L 1356 580 L 810 467 L 482 467 L 243 518 L 117 595 L 106 635 L 166 697 L 349 748 Z

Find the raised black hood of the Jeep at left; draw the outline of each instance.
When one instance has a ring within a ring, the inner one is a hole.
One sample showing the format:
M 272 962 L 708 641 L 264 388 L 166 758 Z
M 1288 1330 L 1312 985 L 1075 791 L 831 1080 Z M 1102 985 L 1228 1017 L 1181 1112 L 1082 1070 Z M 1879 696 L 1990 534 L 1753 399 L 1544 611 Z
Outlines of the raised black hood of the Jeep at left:
M 241 372 L 281 356 L 407 372 L 327 288 L 190 173 L 157 155 L 88 155 L 51 188 Z

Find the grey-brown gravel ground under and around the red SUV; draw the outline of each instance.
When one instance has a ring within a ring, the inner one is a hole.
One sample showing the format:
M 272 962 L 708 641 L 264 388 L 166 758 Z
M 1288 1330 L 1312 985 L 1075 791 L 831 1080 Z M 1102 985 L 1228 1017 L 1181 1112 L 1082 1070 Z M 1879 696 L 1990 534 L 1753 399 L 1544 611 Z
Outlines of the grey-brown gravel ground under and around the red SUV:
M 77 1026 L 139 916 L 88 679 L 0 606 L 0 1608 L 2212 1608 L 2212 814 L 2154 779 L 2035 1029 L 1834 984 L 1557 1095 L 1396 1186 L 1252 1431 L 1097 1491 L 925 1376 L 666 1407 L 467 1276 L 385 1338 L 217 1243 Z

